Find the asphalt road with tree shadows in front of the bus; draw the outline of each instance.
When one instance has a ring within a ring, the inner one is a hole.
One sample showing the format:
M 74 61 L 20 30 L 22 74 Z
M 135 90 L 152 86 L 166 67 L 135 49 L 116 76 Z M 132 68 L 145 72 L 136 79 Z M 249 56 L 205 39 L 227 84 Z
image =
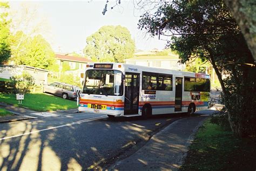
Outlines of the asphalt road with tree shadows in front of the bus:
M 85 170 L 103 166 L 180 117 L 170 114 L 147 120 L 110 120 L 102 114 L 77 113 L 1 124 L 0 170 Z

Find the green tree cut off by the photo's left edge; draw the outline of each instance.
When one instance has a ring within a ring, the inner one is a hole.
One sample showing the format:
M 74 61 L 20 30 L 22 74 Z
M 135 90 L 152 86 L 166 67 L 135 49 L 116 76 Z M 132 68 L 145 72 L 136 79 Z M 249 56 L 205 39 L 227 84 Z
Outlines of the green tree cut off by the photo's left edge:
M 7 2 L 0 2 L 0 64 L 7 61 L 11 56 L 10 44 L 9 44 L 9 21 L 6 19 L 9 8 Z

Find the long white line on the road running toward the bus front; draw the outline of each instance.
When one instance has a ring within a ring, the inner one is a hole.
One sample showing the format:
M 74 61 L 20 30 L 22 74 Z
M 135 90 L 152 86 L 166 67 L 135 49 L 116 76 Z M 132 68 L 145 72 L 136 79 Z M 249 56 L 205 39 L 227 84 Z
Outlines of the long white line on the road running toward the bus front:
M 1 140 L 6 140 L 6 139 L 10 139 L 10 138 L 16 138 L 16 137 L 18 137 L 18 136 L 29 135 L 29 134 L 32 134 L 32 133 L 47 131 L 47 130 L 50 130 L 50 129 L 60 128 L 60 127 L 65 127 L 65 126 L 71 126 L 71 125 L 75 125 L 75 124 L 81 124 L 81 123 L 83 123 L 83 122 L 95 121 L 95 120 L 102 119 L 102 118 L 107 118 L 107 116 L 102 116 L 102 117 L 96 117 L 96 118 L 90 118 L 90 119 L 79 120 L 79 121 L 76 121 L 76 122 L 72 122 L 71 124 L 65 124 L 65 125 L 50 127 L 50 128 L 46 128 L 46 129 L 41 129 L 41 130 L 38 130 L 38 131 L 32 131 L 32 132 L 28 132 L 28 133 L 24 133 L 24 134 L 9 136 L 9 137 L 5 137 L 5 138 L 1 138 L 0 141 L 1 141 Z

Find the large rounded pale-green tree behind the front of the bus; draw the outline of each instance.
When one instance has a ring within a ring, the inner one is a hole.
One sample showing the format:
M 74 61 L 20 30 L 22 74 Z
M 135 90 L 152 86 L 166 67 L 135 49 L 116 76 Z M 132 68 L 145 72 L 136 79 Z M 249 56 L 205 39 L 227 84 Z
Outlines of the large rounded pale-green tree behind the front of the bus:
M 123 62 L 132 57 L 135 44 L 129 30 L 122 26 L 103 26 L 96 33 L 87 37 L 85 56 L 93 61 Z

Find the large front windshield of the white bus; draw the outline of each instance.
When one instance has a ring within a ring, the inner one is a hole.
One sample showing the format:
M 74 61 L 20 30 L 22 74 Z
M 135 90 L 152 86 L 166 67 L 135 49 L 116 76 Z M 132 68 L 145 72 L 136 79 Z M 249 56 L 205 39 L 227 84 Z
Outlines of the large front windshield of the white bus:
M 83 93 L 106 96 L 123 95 L 122 72 L 117 70 L 87 70 Z

